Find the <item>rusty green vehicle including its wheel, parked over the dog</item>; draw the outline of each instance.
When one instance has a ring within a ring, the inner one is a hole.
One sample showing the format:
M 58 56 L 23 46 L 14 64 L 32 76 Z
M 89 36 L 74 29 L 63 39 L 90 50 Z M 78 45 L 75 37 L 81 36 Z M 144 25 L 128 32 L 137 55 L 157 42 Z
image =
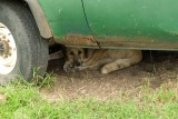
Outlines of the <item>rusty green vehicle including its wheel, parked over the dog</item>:
M 0 0 L 0 83 L 44 73 L 49 42 L 178 50 L 178 1 Z

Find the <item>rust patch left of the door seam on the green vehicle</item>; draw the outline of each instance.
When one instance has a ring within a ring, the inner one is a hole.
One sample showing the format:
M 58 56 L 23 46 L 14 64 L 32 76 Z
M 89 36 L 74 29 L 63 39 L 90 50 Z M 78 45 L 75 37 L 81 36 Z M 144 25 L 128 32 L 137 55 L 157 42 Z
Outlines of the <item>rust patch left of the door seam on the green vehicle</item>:
M 92 36 L 68 34 L 63 38 L 62 44 L 66 46 L 97 46 Z

